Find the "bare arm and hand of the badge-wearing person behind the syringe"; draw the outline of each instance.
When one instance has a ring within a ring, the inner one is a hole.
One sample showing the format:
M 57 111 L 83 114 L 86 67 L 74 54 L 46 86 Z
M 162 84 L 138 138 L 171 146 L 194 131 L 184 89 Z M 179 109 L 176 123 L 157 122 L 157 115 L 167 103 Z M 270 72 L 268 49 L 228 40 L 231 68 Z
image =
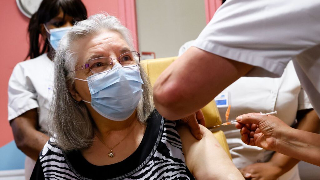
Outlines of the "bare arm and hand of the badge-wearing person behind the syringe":
M 316 115 L 315 110 L 300 110 L 297 114 L 299 121 L 299 125 L 296 127 L 297 129 L 314 133 L 319 132 L 320 119 Z M 300 160 L 275 152 L 270 161 L 251 164 L 240 169 L 240 172 L 245 179 L 276 180 L 292 169 L 299 161 Z

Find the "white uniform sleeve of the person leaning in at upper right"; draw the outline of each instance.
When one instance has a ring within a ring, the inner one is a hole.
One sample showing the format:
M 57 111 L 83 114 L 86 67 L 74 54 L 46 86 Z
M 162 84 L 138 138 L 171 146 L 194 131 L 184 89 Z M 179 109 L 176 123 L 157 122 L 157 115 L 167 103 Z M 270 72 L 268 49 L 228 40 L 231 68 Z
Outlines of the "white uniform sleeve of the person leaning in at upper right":
M 320 44 L 320 1 L 228 0 L 193 46 L 256 66 L 247 76 L 279 77 Z

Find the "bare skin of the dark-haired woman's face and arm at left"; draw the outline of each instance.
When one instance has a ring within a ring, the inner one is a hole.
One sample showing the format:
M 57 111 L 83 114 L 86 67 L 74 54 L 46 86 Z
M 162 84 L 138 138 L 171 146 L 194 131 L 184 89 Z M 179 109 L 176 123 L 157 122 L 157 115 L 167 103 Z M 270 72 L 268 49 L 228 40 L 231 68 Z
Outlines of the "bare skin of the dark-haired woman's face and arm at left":
M 60 11 L 59 15 L 46 23 L 48 29 L 73 26 L 74 19 Z M 48 33 L 43 24 L 40 25 L 41 36 L 45 39 Z M 51 59 L 53 48 L 49 47 L 48 57 Z M 51 59 L 52 60 L 52 59 Z M 38 131 L 37 109 L 28 110 L 10 121 L 12 133 L 17 147 L 33 160 L 37 160 L 44 144 L 49 140 L 49 136 Z

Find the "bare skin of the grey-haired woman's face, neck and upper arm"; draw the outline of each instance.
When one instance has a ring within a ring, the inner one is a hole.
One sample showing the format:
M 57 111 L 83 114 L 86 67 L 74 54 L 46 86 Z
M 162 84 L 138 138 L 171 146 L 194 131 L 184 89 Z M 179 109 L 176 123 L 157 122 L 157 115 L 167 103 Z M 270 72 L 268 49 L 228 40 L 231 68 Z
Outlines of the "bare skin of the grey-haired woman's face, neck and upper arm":
M 82 66 L 92 56 L 111 57 L 116 59 L 123 52 L 123 49 L 130 49 L 123 37 L 114 31 L 102 31 L 99 34 L 78 40 L 74 47 L 74 51 L 78 54 L 76 67 Z M 113 64 L 119 63 L 117 60 Z M 76 78 L 86 79 L 91 76 L 92 72 L 89 69 L 76 71 Z M 75 80 L 74 87 L 70 87 L 72 97 L 80 102 L 81 100 L 91 100 L 90 91 L 87 82 Z M 90 103 L 85 103 L 92 119 L 95 123 L 95 140 L 92 146 L 81 151 L 86 160 L 94 165 L 109 165 L 120 162 L 129 157 L 139 146 L 144 135 L 146 126 L 137 123 L 136 113 L 124 121 L 113 121 L 101 116 Z M 201 111 L 192 114 L 183 119 L 182 122 L 195 121 L 202 119 Z M 201 120 L 201 121 L 202 121 Z M 233 165 L 226 152 L 221 148 L 218 141 L 212 133 L 203 126 L 200 126 L 200 131 L 203 132 L 203 139 L 197 140 L 190 132 L 186 123 L 178 127 L 178 132 L 182 141 L 182 150 L 184 152 L 186 163 L 193 175 L 197 179 L 215 179 L 219 177 L 228 177 L 229 179 L 243 179 L 241 173 Z M 124 138 L 130 133 L 126 138 Z M 106 156 L 109 148 L 104 145 L 97 137 L 112 147 L 117 145 L 113 151 L 116 155 L 113 158 Z M 199 155 L 202 154 L 202 155 Z M 217 168 L 212 171 L 211 168 Z M 226 173 L 226 174 L 225 174 Z M 224 178 L 226 179 L 226 178 Z

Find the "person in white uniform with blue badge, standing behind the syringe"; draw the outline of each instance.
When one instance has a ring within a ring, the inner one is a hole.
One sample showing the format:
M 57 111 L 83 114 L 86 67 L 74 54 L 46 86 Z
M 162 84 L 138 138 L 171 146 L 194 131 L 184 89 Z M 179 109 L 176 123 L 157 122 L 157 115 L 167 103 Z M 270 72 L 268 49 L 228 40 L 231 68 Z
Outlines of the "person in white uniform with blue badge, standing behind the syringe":
M 181 46 L 179 56 L 192 43 L 193 41 L 189 41 Z M 242 77 L 217 97 L 226 100 L 226 104 L 218 105 L 220 115 L 225 114 L 227 106 L 231 105 L 229 120 L 235 120 L 238 115 L 249 112 L 268 113 L 277 110 L 275 116 L 289 126 L 309 132 L 319 130 L 320 120 L 301 87 L 292 61 L 288 63 L 281 78 Z M 226 121 L 224 116 L 221 119 Z M 295 122 L 296 119 L 298 123 Z M 235 125 L 220 126 L 213 129 L 215 130 L 225 133 L 232 161 L 244 178 L 300 180 L 297 165 L 299 160 L 243 143 Z

